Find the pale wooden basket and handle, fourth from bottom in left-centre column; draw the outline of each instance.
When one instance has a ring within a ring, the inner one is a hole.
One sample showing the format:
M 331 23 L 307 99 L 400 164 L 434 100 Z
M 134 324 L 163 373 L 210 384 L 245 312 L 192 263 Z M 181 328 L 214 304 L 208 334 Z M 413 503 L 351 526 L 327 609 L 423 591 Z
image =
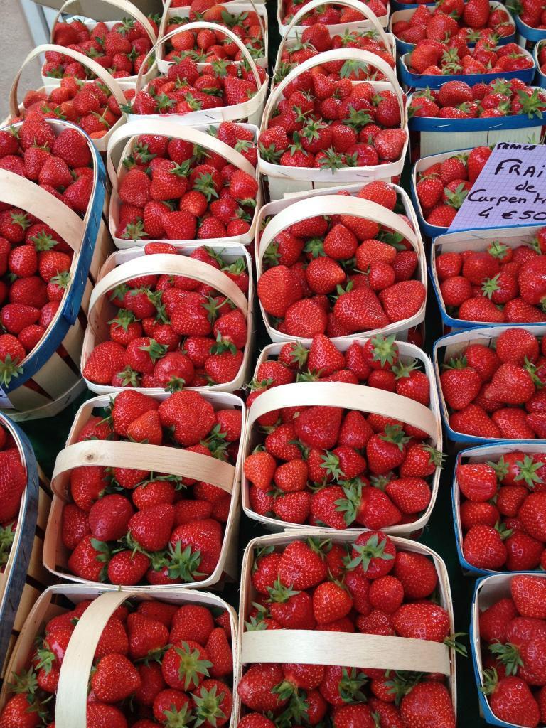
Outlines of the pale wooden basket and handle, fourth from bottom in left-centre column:
M 253 220 L 250 223 L 250 229 L 244 235 L 237 235 L 232 237 L 213 238 L 207 240 L 164 240 L 163 242 L 170 242 L 172 245 L 187 245 L 192 242 L 199 242 L 200 245 L 210 245 L 218 243 L 221 245 L 232 245 L 232 243 L 240 243 L 241 245 L 250 245 L 254 235 L 256 233 L 256 217 L 258 210 L 262 204 L 262 193 L 259 182 L 259 175 L 256 169 L 250 164 L 248 159 L 240 154 L 240 152 L 232 149 L 229 144 L 224 143 L 220 139 L 215 138 L 212 134 L 208 134 L 205 128 L 201 130 L 194 127 L 183 126 L 178 123 L 173 116 L 159 116 L 159 119 L 152 120 L 151 116 L 132 116 L 134 121 L 124 124 L 111 136 L 108 142 L 108 155 L 106 157 L 106 169 L 108 170 L 108 178 L 111 183 L 111 198 L 110 198 L 110 234 L 116 244 L 116 248 L 135 248 L 135 246 L 144 246 L 149 242 L 154 242 L 148 238 L 144 240 L 124 240 L 124 238 L 116 237 L 116 230 L 119 222 L 119 207 L 121 202 L 118 196 L 119 182 L 127 174 L 127 169 L 123 164 L 123 159 L 131 154 L 132 148 L 135 145 L 135 141 L 141 134 L 153 134 L 162 135 L 175 139 L 184 139 L 199 146 L 209 149 L 210 151 L 220 154 L 221 157 L 226 159 L 230 164 L 238 167 L 243 172 L 258 181 L 258 194 L 256 195 L 256 209 L 253 216 Z M 178 117 L 177 117 L 178 119 Z M 257 127 L 251 124 L 242 124 L 245 128 L 255 133 L 255 138 L 258 135 Z M 124 141 L 125 145 L 122 154 L 119 155 L 119 145 Z M 116 151 L 117 149 L 117 151 Z M 115 160 L 115 161 L 114 161 Z M 116 166 L 117 165 L 117 166 Z

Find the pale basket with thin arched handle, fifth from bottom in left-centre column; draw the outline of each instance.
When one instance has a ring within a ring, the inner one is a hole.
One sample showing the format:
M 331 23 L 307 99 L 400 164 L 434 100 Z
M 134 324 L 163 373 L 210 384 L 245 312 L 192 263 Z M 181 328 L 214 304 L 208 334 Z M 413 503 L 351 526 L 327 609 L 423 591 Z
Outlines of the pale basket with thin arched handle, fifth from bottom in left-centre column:
M 223 28 L 223 26 L 222 26 Z M 202 30 L 210 30 L 210 31 L 217 31 L 218 25 L 216 23 L 205 23 L 202 20 L 197 23 L 188 23 L 188 25 L 184 25 L 183 28 L 176 28 L 174 31 L 170 31 L 170 33 L 166 33 L 165 36 L 160 38 L 157 43 L 151 47 L 151 50 L 149 51 L 148 55 L 144 59 L 144 62 L 142 64 L 142 69 L 146 65 L 146 63 L 149 63 L 150 58 L 152 55 L 159 54 L 160 48 L 165 44 L 165 41 L 169 40 L 170 38 L 173 38 L 177 33 L 181 33 L 183 31 L 202 31 Z M 243 103 L 236 103 L 233 106 L 221 106 L 220 108 L 207 108 L 202 109 L 201 111 L 191 111 L 189 114 L 168 114 L 167 116 L 170 117 L 170 119 L 173 120 L 173 122 L 176 122 L 177 124 L 183 124 L 184 126 L 194 126 L 196 124 L 210 124 L 211 122 L 242 122 L 242 121 L 248 121 L 249 124 L 258 124 L 260 123 L 262 111 L 264 110 L 264 103 L 266 100 L 267 95 L 267 82 L 268 82 L 268 76 L 266 75 L 266 78 L 264 82 L 261 82 L 260 76 L 258 75 L 258 69 L 256 68 L 256 63 L 254 63 L 254 60 L 250 53 L 248 52 L 247 47 L 242 43 L 241 39 L 235 35 L 233 31 L 230 31 L 229 28 L 223 28 L 223 33 L 228 36 L 229 39 L 231 39 L 234 44 L 239 47 L 240 51 L 242 52 L 243 57 L 248 62 L 248 65 L 250 66 L 250 70 L 253 73 L 254 81 L 256 82 L 256 88 L 258 91 L 255 95 L 253 95 L 252 98 L 250 98 L 248 101 L 245 101 Z M 201 64 L 202 66 L 207 66 L 207 64 Z M 146 84 L 143 81 L 143 74 L 139 72 L 137 80 L 136 80 L 136 87 L 135 87 L 135 95 L 138 94 L 138 92 L 143 89 L 143 87 Z M 157 121 L 158 119 L 162 119 L 165 117 L 165 114 L 128 114 L 127 119 L 129 121 L 134 121 L 135 119 L 152 119 L 154 121 Z

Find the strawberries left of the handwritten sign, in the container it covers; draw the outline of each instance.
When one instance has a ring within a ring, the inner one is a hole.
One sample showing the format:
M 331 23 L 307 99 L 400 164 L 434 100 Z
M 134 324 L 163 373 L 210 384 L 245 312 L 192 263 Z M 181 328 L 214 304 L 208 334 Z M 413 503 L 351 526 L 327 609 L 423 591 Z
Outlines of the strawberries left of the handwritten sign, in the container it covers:
M 448 229 L 490 156 L 490 147 L 476 146 L 417 173 L 415 191 L 429 225 Z

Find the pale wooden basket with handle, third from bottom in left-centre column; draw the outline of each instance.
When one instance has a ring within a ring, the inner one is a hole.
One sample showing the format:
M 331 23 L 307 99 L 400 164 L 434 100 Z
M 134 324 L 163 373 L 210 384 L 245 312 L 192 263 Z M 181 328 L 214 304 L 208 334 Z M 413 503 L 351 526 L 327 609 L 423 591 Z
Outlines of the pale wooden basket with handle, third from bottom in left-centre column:
M 207 387 L 186 387 L 187 389 L 197 389 L 200 392 L 235 392 L 240 389 L 245 381 L 248 380 L 248 371 L 250 368 L 250 360 L 253 348 L 253 280 L 252 280 L 252 261 L 246 248 L 242 245 L 227 245 L 224 247 L 215 246 L 218 253 L 231 262 L 237 258 L 245 258 L 248 270 L 248 296 L 242 293 L 242 290 L 234 283 L 225 273 L 213 268 L 213 266 L 189 258 L 189 253 L 201 245 L 193 244 L 185 246 L 181 249 L 181 255 L 173 256 L 170 254 L 155 253 L 152 256 L 144 255 L 142 248 L 133 250 L 123 250 L 111 255 L 103 268 L 97 280 L 97 285 L 91 294 L 89 314 L 87 317 L 88 325 L 84 336 L 84 346 L 82 349 L 82 371 L 85 363 L 90 357 L 92 350 L 100 341 L 108 341 L 109 327 L 107 321 L 111 320 L 111 314 L 116 315 L 116 306 L 111 304 L 108 296 L 105 294 L 109 290 L 115 288 L 122 282 L 127 282 L 135 276 L 149 274 L 165 274 L 184 275 L 186 277 L 200 280 L 201 282 L 213 285 L 216 290 L 220 290 L 225 296 L 230 298 L 240 308 L 247 320 L 247 340 L 245 350 L 243 352 L 243 360 L 237 378 L 227 384 L 213 384 Z M 94 384 L 88 379 L 85 380 L 87 387 L 98 395 L 108 394 L 109 392 L 122 392 L 124 387 L 110 387 L 102 384 Z M 139 392 L 145 395 L 159 395 L 164 392 L 159 387 L 140 387 Z

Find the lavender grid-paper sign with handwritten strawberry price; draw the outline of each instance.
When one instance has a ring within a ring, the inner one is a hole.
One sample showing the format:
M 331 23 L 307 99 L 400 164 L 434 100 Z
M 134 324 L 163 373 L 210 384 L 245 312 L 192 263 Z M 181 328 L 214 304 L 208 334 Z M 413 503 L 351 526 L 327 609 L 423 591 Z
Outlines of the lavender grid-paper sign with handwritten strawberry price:
M 546 223 L 546 145 L 499 142 L 449 232 Z

